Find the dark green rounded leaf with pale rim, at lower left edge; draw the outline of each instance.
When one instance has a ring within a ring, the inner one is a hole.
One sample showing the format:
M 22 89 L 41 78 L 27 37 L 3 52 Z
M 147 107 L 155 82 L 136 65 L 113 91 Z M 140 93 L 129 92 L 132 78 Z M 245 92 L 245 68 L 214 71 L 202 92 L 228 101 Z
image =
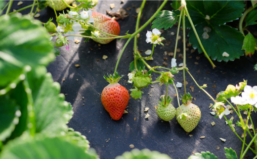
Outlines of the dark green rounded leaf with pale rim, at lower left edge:
M 0 141 L 5 141 L 19 122 L 21 112 L 15 100 L 8 95 L 0 96 Z

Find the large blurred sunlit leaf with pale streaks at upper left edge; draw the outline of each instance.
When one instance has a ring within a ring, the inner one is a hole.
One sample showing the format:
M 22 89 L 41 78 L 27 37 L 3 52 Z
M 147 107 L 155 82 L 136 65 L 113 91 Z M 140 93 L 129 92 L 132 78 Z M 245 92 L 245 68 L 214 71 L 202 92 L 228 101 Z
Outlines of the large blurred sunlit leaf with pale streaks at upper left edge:
M 40 21 L 14 14 L 0 17 L 0 87 L 16 79 L 25 65 L 47 65 L 53 44 Z

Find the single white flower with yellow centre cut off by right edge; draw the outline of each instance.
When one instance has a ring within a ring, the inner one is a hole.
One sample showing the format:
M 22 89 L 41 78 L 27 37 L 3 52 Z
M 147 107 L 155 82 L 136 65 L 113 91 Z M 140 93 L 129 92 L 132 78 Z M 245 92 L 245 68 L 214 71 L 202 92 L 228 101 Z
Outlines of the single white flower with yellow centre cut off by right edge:
M 248 104 L 255 105 L 257 103 L 257 86 L 252 88 L 246 85 L 242 97 L 247 100 Z

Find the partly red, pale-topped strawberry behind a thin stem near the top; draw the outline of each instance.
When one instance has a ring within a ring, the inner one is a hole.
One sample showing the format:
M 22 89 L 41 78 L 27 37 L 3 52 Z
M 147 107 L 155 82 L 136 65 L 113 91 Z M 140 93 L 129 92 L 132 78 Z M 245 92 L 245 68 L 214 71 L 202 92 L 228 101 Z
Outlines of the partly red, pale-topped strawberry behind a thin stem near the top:
M 113 34 L 113 35 L 120 34 L 119 24 L 109 16 L 101 13 L 97 13 L 97 12 L 92 12 L 92 18 L 94 19 L 94 26 L 99 30 L 109 34 Z M 99 32 L 99 37 L 112 37 L 112 36 Z M 96 42 L 99 42 L 100 44 L 107 44 L 114 39 L 93 39 L 93 40 Z

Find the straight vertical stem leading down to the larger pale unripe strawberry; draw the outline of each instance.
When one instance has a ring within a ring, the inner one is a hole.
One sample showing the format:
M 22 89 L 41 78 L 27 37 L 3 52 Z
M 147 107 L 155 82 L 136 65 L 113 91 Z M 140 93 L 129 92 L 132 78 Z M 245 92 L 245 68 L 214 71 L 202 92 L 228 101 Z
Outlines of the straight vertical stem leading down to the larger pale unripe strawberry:
M 185 11 L 184 9 L 181 10 L 183 12 L 183 67 L 186 67 L 186 28 L 185 28 Z M 185 68 L 183 69 L 183 79 L 184 79 L 184 91 L 186 95 L 186 79 L 185 79 Z

